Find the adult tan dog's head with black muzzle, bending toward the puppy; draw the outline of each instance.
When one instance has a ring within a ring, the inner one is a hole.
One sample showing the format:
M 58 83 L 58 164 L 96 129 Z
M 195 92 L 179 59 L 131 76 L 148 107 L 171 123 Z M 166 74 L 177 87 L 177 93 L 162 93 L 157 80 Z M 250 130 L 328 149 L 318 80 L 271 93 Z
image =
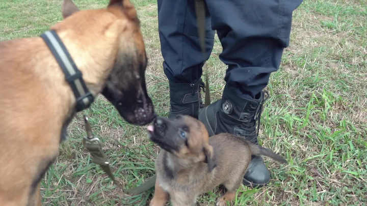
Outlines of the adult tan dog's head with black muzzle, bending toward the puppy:
M 147 56 L 133 4 L 129 0 L 110 0 L 106 9 L 80 11 L 72 0 L 64 0 L 62 14 L 63 28 L 70 28 L 70 36 L 94 54 L 89 63 L 102 67 L 98 71 L 89 67 L 83 73 L 85 78 L 90 73 L 98 77 L 90 80 L 89 89 L 106 97 L 128 123 L 150 123 L 156 114 L 147 94 Z

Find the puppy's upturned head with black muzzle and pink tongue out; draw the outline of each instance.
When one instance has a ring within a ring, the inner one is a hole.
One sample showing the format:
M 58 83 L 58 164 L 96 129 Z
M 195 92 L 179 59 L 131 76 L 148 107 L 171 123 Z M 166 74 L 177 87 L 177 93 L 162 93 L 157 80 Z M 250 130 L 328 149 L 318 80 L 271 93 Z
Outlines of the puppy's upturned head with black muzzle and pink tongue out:
M 205 126 L 189 115 L 177 115 L 173 120 L 157 117 L 153 125 L 148 126 L 148 135 L 163 150 L 188 164 L 205 162 L 209 172 L 216 167 Z

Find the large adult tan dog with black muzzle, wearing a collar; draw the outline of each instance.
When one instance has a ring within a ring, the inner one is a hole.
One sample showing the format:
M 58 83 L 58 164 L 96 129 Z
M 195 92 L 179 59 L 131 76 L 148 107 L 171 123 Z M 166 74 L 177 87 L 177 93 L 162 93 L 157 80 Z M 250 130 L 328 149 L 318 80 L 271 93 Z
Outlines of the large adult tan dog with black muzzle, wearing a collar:
M 146 125 L 154 109 L 145 85 L 147 57 L 128 0 L 80 11 L 63 2 L 52 26 L 95 98 L 104 95 L 129 123 Z M 79 101 L 78 101 L 79 102 Z M 0 43 L 0 205 L 41 205 L 40 181 L 58 155 L 76 100 L 40 37 Z

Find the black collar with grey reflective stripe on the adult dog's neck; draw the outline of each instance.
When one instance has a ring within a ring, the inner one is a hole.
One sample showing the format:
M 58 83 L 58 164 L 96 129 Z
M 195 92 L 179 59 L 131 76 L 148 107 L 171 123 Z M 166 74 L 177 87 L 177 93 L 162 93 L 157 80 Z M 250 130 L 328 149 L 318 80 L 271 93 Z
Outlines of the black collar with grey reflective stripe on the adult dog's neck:
M 88 108 L 93 103 L 94 97 L 89 92 L 83 80 L 82 72 L 77 69 L 60 37 L 54 30 L 50 30 L 43 33 L 41 38 L 45 41 L 51 53 L 53 53 L 65 74 L 66 81 L 71 86 L 76 98 L 76 111 L 79 112 Z

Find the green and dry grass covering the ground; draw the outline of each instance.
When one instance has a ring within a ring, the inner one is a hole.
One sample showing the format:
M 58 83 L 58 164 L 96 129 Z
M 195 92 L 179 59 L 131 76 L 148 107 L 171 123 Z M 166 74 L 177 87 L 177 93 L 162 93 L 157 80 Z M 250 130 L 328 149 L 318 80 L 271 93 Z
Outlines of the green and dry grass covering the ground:
M 107 0 L 77 0 L 81 9 L 102 8 Z M 169 109 L 168 82 L 162 70 L 157 5 L 134 0 L 149 56 L 149 95 L 159 115 Z M 0 41 L 38 36 L 61 17 L 61 0 L 0 2 Z M 265 158 L 269 186 L 242 186 L 235 205 L 365 205 L 367 202 L 367 1 L 305 1 L 295 12 L 291 44 L 267 87 L 261 144 L 288 161 L 283 167 Z M 212 102 L 221 97 L 225 65 L 216 37 L 210 72 Z M 141 184 L 154 173 L 159 148 L 144 127 L 127 124 L 102 97 L 92 105 L 91 124 L 103 142 L 117 180 Z M 91 162 L 82 145 L 81 121 L 74 120 L 70 139 L 60 145 L 57 161 L 42 180 L 44 205 L 147 205 L 153 190 L 121 198 L 106 174 Z M 198 198 L 215 205 L 222 191 Z M 169 203 L 170 204 L 170 203 Z

